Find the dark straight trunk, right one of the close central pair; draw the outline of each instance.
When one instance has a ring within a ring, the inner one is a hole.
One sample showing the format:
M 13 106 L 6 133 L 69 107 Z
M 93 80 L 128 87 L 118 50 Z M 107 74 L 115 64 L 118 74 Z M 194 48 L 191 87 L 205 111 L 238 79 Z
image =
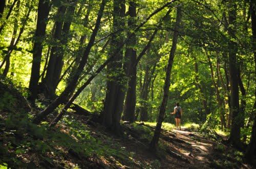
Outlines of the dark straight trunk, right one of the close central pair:
M 126 43 L 128 48 L 125 52 L 125 74 L 128 77 L 128 89 L 126 92 L 125 104 L 124 104 L 124 116 L 123 120 L 134 122 L 135 121 L 135 105 L 136 105 L 136 76 L 137 68 L 134 68 L 133 65 L 136 64 L 136 35 L 133 32 L 136 24 L 136 1 L 129 2 L 129 11 L 130 18 L 128 25 L 131 27 L 128 36 L 131 36 L 129 41 Z

